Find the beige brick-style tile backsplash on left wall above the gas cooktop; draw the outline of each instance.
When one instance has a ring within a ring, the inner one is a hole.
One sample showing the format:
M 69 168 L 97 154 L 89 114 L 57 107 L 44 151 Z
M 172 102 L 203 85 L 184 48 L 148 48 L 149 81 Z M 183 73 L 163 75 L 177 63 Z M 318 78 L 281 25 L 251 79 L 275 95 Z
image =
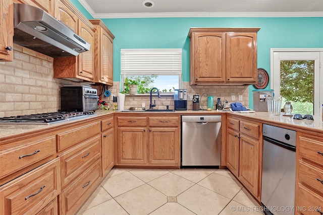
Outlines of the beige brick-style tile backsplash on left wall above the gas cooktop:
M 14 44 L 13 61 L 0 62 L 0 117 L 58 111 L 60 88 L 53 58 Z

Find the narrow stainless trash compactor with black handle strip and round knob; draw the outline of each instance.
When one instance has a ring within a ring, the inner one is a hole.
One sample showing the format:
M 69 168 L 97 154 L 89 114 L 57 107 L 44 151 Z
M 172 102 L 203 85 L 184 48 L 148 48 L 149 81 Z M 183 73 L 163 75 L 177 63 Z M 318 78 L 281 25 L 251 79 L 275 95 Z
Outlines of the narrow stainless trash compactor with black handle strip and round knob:
M 261 205 L 267 215 L 292 215 L 295 204 L 296 131 L 263 124 Z

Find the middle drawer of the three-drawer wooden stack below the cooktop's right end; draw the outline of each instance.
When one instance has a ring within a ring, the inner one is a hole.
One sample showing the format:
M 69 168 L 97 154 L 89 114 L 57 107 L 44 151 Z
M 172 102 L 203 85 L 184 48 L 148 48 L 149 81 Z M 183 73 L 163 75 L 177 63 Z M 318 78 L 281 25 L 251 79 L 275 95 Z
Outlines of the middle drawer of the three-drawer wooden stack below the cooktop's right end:
M 100 157 L 101 145 L 99 135 L 61 154 L 62 187 L 75 180 L 91 163 L 95 163 Z

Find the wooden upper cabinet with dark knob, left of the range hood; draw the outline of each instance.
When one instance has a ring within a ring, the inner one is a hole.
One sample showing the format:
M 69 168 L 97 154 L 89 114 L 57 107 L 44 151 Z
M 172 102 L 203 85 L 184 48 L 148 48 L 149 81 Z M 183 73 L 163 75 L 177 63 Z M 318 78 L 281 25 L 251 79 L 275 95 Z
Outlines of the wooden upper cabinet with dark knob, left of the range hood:
M 0 0 L 0 61 L 12 61 L 13 36 L 13 4 L 8 0 Z

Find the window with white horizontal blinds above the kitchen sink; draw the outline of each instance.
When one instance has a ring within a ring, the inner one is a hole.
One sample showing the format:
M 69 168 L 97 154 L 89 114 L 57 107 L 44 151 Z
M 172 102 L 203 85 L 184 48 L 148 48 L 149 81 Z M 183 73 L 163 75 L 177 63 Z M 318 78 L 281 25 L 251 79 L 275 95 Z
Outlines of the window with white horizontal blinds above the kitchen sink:
M 138 93 L 182 88 L 182 49 L 121 49 L 121 89 L 126 78 L 145 83 Z

